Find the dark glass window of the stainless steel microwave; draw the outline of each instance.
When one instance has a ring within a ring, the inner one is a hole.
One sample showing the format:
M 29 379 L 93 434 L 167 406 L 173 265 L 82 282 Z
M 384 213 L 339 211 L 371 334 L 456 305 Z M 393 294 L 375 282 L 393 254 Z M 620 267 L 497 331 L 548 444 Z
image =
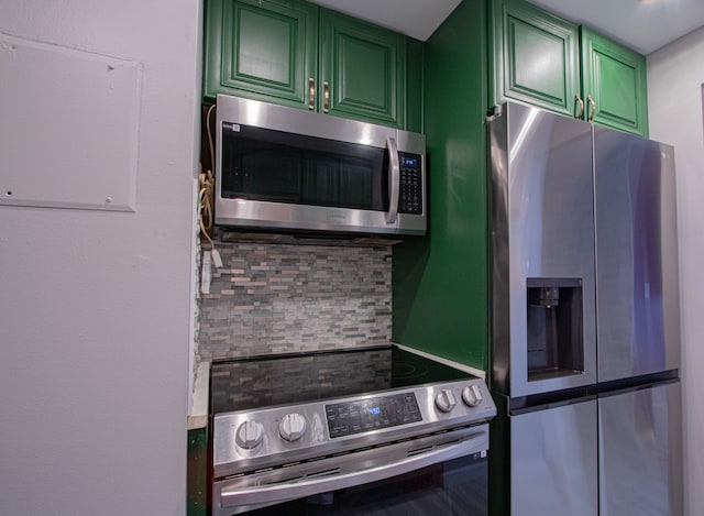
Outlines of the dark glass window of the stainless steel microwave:
M 226 198 L 385 211 L 387 168 L 384 149 L 246 125 L 222 128 Z

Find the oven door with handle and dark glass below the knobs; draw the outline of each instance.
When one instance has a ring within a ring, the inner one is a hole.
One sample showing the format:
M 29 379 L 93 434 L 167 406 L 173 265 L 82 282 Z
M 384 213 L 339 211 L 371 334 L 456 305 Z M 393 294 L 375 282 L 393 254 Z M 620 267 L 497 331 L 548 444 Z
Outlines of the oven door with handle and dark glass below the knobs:
M 213 485 L 213 515 L 487 514 L 488 425 L 267 469 Z

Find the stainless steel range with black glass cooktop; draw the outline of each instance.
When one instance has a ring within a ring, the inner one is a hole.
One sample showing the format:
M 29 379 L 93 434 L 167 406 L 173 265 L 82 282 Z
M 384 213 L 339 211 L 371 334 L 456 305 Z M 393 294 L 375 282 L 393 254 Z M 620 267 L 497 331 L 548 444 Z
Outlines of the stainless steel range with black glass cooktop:
M 211 415 L 213 515 L 486 514 L 496 407 L 482 378 L 416 353 L 216 362 Z

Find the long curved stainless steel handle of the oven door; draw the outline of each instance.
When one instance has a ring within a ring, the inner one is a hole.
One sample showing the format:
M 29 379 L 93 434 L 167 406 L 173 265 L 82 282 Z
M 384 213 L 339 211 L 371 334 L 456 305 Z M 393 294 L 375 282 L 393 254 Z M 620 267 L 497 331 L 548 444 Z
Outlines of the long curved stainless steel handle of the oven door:
M 354 485 L 366 484 L 396 476 L 410 471 L 420 470 L 439 462 L 458 459 L 486 449 L 486 433 L 479 432 L 460 441 L 441 444 L 425 453 L 402 459 L 396 462 L 359 470 L 339 475 L 320 476 L 290 483 L 257 485 L 248 487 L 223 486 L 220 491 L 220 506 L 253 506 L 287 502 L 318 493 L 327 493 Z M 483 446 L 477 447 L 480 441 Z

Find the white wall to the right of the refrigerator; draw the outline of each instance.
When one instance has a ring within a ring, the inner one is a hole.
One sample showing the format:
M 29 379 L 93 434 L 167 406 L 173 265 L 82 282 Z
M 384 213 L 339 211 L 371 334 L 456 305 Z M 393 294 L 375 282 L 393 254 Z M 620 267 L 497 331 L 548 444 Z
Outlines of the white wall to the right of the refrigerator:
M 675 147 L 688 515 L 704 514 L 704 28 L 648 56 L 650 135 Z

